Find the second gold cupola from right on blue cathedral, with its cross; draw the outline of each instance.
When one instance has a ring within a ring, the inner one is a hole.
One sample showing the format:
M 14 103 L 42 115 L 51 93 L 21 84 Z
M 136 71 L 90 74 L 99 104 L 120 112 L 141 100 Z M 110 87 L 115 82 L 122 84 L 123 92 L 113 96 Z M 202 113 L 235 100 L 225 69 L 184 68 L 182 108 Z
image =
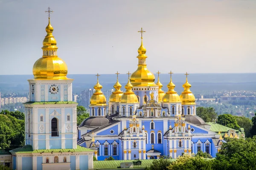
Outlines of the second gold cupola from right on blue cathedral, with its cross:
M 168 91 L 163 96 L 163 102 L 164 103 L 177 103 L 181 102 L 180 96 L 177 94 L 177 92 L 174 90 L 175 84 L 172 82 L 172 71 L 170 71 L 171 74 L 171 80 L 169 84 L 167 85 Z

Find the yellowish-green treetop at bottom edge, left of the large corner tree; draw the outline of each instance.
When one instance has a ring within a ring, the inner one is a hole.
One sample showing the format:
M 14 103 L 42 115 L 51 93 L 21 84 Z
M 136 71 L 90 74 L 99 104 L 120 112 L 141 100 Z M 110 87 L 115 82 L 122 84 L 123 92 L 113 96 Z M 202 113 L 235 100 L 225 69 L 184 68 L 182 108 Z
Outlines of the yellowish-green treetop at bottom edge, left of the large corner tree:
M 184 154 L 178 156 L 168 167 L 169 170 L 212 170 L 212 159 Z

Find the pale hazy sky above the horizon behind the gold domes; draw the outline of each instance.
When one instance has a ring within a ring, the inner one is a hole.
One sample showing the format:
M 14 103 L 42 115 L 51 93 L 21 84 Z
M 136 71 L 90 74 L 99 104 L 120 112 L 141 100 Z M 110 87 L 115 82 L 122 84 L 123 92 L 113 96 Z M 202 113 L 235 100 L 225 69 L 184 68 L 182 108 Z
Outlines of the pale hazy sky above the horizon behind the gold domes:
M 32 74 L 51 14 L 68 74 L 254 73 L 255 0 L 0 0 L 0 74 Z

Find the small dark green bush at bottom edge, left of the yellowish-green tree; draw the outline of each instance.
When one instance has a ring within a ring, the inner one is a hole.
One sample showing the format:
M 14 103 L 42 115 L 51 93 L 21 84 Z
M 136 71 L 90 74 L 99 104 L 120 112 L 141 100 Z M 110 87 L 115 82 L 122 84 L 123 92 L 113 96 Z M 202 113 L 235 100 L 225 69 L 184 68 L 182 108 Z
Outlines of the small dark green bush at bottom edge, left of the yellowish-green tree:
M 170 164 L 170 159 L 160 157 L 160 159 L 154 159 L 150 167 L 146 167 L 145 170 L 168 170 Z

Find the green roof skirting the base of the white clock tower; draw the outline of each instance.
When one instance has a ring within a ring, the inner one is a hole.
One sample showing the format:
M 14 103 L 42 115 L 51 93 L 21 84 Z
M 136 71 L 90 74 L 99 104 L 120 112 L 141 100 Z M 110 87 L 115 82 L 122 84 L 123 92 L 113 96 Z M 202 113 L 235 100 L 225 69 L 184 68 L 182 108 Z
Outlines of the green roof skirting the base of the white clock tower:
M 10 152 L 13 153 L 49 153 L 49 152 L 84 152 L 84 151 L 93 151 L 90 150 L 86 147 L 81 147 L 77 145 L 76 149 L 38 149 L 38 150 L 33 150 L 31 145 L 26 145 L 23 147 L 18 147 L 14 150 L 11 150 Z

